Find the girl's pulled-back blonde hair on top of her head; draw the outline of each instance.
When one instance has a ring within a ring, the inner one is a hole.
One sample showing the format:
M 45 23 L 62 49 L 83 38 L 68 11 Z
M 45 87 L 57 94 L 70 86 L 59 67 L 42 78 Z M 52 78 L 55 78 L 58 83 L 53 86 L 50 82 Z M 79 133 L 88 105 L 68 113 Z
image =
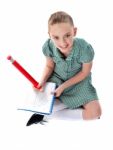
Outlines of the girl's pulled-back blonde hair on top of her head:
M 72 17 L 63 11 L 57 11 L 51 14 L 48 20 L 48 28 L 50 27 L 50 25 L 54 25 L 57 23 L 70 23 L 72 26 L 74 26 Z

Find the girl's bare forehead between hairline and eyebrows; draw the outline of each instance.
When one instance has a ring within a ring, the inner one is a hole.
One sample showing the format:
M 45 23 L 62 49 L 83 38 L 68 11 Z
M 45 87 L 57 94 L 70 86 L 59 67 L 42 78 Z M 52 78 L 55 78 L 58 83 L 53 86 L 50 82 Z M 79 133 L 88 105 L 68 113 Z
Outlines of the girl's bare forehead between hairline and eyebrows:
M 58 33 L 71 32 L 73 29 L 74 27 L 70 23 L 57 23 L 49 26 L 49 32 L 56 35 Z

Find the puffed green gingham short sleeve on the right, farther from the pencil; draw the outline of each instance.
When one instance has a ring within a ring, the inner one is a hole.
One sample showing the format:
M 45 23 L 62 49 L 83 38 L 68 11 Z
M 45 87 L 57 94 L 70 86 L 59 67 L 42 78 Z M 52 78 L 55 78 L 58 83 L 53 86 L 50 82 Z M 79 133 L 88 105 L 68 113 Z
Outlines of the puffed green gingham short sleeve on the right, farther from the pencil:
M 81 49 L 80 62 L 88 63 L 91 62 L 94 58 L 94 49 L 93 47 L 85 43 L 85 45 Z

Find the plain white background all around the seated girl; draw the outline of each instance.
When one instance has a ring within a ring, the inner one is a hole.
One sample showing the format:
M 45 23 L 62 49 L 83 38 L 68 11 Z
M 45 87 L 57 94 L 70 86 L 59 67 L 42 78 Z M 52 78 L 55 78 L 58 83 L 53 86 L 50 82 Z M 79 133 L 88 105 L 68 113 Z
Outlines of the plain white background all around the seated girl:
M 29 113 L 16 110 L 31 84 L 8 62 L 12 55 L 37 80 L 44 66 L 42 44 L 51 13 L 74 19 L 77 37 L 95 49 L 93 83 L 103 115 L 97 121 L 51 121 L 26 127 Z M 113 149 L 112 0 L 0 0 L 0 147 L 7 149 Z M 51 145 L 52 143 L 52 145 Z

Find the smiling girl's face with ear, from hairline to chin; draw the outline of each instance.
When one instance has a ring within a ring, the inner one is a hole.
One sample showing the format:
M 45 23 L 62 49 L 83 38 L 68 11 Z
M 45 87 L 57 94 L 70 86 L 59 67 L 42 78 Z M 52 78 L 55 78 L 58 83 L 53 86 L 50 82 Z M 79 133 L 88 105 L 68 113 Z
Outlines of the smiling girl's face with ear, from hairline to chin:
M 68 55 L 72 49 L 76 30 L 70 23 L 58 23 L 49 27 L 51 40 L 64 55 Z

